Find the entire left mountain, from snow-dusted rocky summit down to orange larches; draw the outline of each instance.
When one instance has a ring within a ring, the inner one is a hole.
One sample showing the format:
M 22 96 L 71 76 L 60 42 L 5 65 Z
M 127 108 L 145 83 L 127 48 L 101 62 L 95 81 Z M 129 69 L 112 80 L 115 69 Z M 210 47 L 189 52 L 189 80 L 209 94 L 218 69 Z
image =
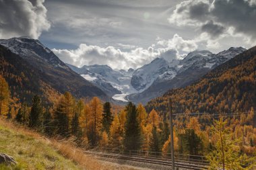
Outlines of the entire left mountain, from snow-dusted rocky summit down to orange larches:
M 65 91 L 75 97 L 110 99 L 104 91 L 69 69 L 39 40 L 24 37 L 0 40 L 0 63 L 0 71 L 19 99 L 30 101 L 36 93 L 46 96 Z

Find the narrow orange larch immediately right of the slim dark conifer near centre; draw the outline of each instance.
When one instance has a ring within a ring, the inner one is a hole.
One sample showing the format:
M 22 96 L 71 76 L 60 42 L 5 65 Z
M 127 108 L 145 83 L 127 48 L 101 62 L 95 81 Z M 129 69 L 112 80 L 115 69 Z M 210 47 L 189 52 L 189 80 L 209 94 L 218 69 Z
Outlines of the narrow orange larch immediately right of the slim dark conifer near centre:
M 115 114 L 114 120 L 110 126 L 110 145 L 113 148 L 117 148 L 121 145 L 120 123 L 117 114 Z

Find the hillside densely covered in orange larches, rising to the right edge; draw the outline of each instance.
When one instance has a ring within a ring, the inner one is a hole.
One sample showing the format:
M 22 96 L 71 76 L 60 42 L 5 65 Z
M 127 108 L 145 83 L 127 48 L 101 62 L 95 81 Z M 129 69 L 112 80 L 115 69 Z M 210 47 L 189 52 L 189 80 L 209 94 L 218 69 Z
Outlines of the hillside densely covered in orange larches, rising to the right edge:
M 146 106 L 147 110 L 154 108 L 160 114 L 166 114 L 168 99 L 172 99 L 172 111 L 175 114 L 248 112 L 251 107 L 255 108 L 256 46 L 234 58 L 233 54 L 232 48 L 220 52 L 217 55 L 222 57 L 217 62 L 225 57 L 231 59 L 215 67 L 195 83 L 171 89 L 161 97 L 152 99 Z

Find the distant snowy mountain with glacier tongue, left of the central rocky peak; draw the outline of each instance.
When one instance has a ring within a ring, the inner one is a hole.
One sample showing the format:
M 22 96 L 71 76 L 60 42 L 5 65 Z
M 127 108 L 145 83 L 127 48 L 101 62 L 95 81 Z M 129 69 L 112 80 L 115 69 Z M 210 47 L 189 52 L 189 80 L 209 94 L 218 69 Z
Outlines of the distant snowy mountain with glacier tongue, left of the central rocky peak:
M 131 76 L 133 69 L 113 70 L 107 65 L 84 65 L 81 68 L 69 65 L 70 69 L 92 82 L 114 99 L 123 100 L 127 93 L 134 93 L 135 89 L 131 86 Z

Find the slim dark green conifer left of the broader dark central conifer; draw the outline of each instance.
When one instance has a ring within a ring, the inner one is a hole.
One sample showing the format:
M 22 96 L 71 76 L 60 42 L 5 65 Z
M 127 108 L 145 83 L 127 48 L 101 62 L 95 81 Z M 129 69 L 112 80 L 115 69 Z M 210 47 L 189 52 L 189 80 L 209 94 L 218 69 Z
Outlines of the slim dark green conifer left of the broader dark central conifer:
M 102 131 L 106 131 L 109 134 L 110 124 L 113 121 L 110 102 L 104 103 L 102 116 Z

